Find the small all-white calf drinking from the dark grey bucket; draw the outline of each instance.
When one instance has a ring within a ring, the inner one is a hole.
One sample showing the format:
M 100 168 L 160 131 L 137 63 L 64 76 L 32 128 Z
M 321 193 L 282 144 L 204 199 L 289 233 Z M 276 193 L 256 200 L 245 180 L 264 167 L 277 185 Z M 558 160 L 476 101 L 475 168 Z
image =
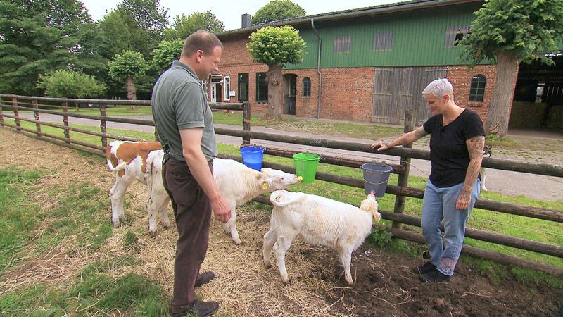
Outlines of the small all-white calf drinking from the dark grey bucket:
M 270 253 L 274 247 L 281 280 L 289 282 L 285 254 L 291 241 L 301 235 L 305 242 L 338 251 L 346 281 L 353 285 L 352 252 L 372 232 L 373 221 L 381 219 L 374 195 L 369 194 L 360 208 L 326 197 L 285 190 L 272 192 L 270 201 L 274 209 L 270 231 L 264 235 L 264 265 L 270 268 Z

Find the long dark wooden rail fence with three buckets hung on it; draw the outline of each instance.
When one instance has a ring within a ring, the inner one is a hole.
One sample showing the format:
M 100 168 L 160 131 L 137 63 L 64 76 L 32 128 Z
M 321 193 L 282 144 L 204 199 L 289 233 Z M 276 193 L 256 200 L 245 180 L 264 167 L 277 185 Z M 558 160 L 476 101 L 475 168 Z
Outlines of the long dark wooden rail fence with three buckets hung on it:
M 80 113 L 68 113 L 68 105 L 78 104 L 90 104 L 99 106 L 100 115 L 84 115 Z M 72 149 L 79 149 L 81 151 L 86 151 L 90 154 L 104 156 L 104 151 L 106 144 L 108 144 L 108 139 L 120 139 L 128 140 L 132 138 L 123 137 L 119 135 L 110 135 L 107 133 L 107 122 L 118 122 L 118 123 L 129 123 L 137 125 L 148 125 L 153 126 L 152 120 L 139 120 L 132 118 L 118 118 L 106 116 L 106 108 L 113 105 L 135 105 L 135 106 L 150 106 L 151 101 L 125 101 L 125 100 L 103 100 L 103 99 L 63 99 L 63 98 L 46 98 L 46 97 L 25 97 L 16 95 L 6 95 L 0 94 L 0 126 L 7 128 L 12 128 L 18 132 L 25 135 L 35 137 L 37 139 L 42 139 L 48 142 L 53 142 L 65 147 L 70 147 Z M 250 139 L 262 139 L 270 140 L 274 142 L 283 142 L 291 144 L 301 144 L 313 147 L 324 147 L 332 149 L 341 149 L 349 151 L 361 151 L 367 153 L 373 153 L 373 149 L 367 144 L 351 143 L 351 142 L 339 142 L 328 139 L 311 139 L 305 137 L 292 137 L 287 135 L 274 135 L 264 132 L 253 132 L 250 126 L 250 115 L 251 109 L 248 103 L 245 104 L 235 104 L 235 103 L 217 103 L 210 104 L 213 109 L 229 109 L 229 110 L 242 110 L 243 111 L 243 130 L 234 130 L 226 128 L 215 128 L 215 132 L 218 135 L 230 135 L 242 138 L 241 146 L 244 144 L 250 144 Z M 58 109 L 58 111 L 48 110 L 49 108 Z M 12 114 L 7 114 L 6 110 L 13 112 Z M 32 111 L 34 113 L 34 119 L 26 119 L 20 116 L 19 111 Z M 41 120 L 40 113 L 49 113 L 62 116 L 62 125 L 56 123 L 47 123 Z M 99 120 L 100 132 L 73 128 L 69 125 L 68 118 L 86 118 L 91 120 Z M 4 118 L 12 118 L 15 120 L 15 124 L 6 123 Z M 21 121 L 27 121 L 35 124 L 35 129 L 23 128 L 21 126 Z M 63 135 L 51 135 L 42 132 L 42 125 L 60 128 L 63 130 Z M 407 111 L 405 115 L 405 132 L 413 129 L 412 125 L 412 113 Z M 72 139 L 70 132 L 81 132 L 87 135 L 95 135 L 101 137 L 100 144 L 90 144 L 87 142 L 81 142 L 76 139 Z M 155 137 L 158 139 L 158 135 Z M 270 154 L 274 156 L 283 156 L 291 158 L 296 151 L 290 151 L 286 149 L 277 149 L 274 147 L 269 147 L 265 151 L 265 154 Z M 393 212 L 391 211 L 380 211 L 382 218 L 386 220 L 391 220 L 393 225 L 391 227 L 379 226 L 388 232 L 391 232 L 393 237 L 398 237 L 403 240 L 408 240 L 411 242 L 417 242 L 424 244 L 424 238 L 422 235 L 411 232 L 409 230 L 404 230 L 401 228 L 401 224 L 412 225 L 420 227 L 420 218 L 407 216 L 403 214 L 405 207 L 405 197 L 415 197 L 422 199 L 424 195 L 424 190 L 415 189 L 412 187 L 407 187 L 408 176 L 410 173 L 410 159 L 424 159 L 429 160 L 429 151 L 421 149 L 412 149 L 412 146 L 393 148 L 384 151 L 383 154 L 391 156 L 399 156 L 400 164 L 391 165 L 393 167 L 393 173 L 398 174 L 398 185 L 388 185 L 386 192 L 388 194 L 396 195 L 396 204 Z M 227 159 L 241 160 L 239 156 L 228 156 L 220 154 L 220 157 Z M 359 168 L 363 163 L 367 161 L 355 160 L 355 159 L 342 159 L 335 156 L 323 155 L 321 159 L 322 163 L 329 163 L 338 166 L 348 166 Z M 269 163 L 265 161 L 263 166 L 270 168 L 277 168 L 279 170 L 284 170 L 288 173 L 295 173 L 295 168 L 293 166 L 284 166 L 276 163 Z M 512 170 L 523 173 L 531 173 L 537 175 L 550 175 L 558 178 L 563 178 L 563 166 L 556 166 L 543 163 L 519 163 L 514 161 L 506 161 L 502 159 L 491 159 L 483 158 L 483 167 L 495 168 L 499 170 Z M 348 185 L 351 187 L 363 188 L 364 182 L 356 178 L 348 178 L 340 175 L 334 175 L 330 173 L 320 173 L 317 172 L 317 180 L 322 180 L 326 182 L 334 182 L 341 185 Z M 255 199 L 264 204 L 270 204 L 270 201 L 266 197 L 258 197 Z M 556 223 L 563 223 L 563 211 L 554 209 L 543 209 L 532 206 L 521 206 L 518 204 L 509 204 L 501 201 L 493 201 L 488 199 L 479 198 L 477 201 L 476 208 L 486 209 L 492 212 L 509 213 L 518 216 L 525 216 L 529 218 L 537 218 L 546 221 L 552 221 Z M 526 240 L 519 237 L 512 237 L 509 235 L 500 235 L 495 232 L 488 232 L 484 230 L 478 230 L 474 228 L 467 228 L 466 237 L 472 239 L 492 242 L 495 244 L 501 244 L 507 247 L 514 247 L 517 249 L 523 249 L 527 251 L 538 252 L 540 254 L 548 254 L 550 256 L 555 256 L 559 259 L 563 259 L 563 247 L 560 245 L 552 245 L 543 242 L 536 242 L 532 240 Z M 500 263 L 524 266 L 527 268 L 533 268 L 538 271 L 543 271 L 546 273 L 551 273 L 559 277 L 563 277 L 563 268 L 548 266 L 543 263 L 537 263 L 535 261 L 529 261 L 527 259 L 521 259 L 516 256 L 509 256 L 506 254 L 500 254 L 495 251 L 489 251 L 486 249 L 481 249 L 477 247 L 472 247 L 464 244 L 462 248 L 462 253 L 469 254 L 472 256 L 479 257 L 481 259 L 489 259 L 493 261 L 498 261 Z

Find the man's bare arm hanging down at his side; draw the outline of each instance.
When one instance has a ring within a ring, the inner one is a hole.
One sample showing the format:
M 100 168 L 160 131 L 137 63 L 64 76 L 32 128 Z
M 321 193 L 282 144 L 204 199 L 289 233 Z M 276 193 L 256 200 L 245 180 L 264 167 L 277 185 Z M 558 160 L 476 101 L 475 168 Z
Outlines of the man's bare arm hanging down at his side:
M 182 155 L 186 159 L 191 175 L 194 175 L 203 192 L 211 200 L 211 208 L 217 220 L 226 223 L 231 218 L 231 206 L 219 189 L 209 169 L 205 155 L 201 151 L 203 128 L 180 130 L 182 139 Z

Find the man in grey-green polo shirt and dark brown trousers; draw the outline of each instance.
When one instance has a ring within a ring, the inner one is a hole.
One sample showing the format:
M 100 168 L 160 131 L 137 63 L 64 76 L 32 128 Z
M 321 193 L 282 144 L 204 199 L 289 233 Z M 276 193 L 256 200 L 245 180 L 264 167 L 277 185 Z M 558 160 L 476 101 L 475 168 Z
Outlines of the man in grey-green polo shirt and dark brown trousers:
M 151 104 L 163 144 L 163 182 L 172 201 L 178 229 L 174 263 L 172 316 L 209 316 L 217 302 L 196 299 L 195 286 L 215 274 L 199 274 L 209 242 L 211 213 L 222 223 L 231 217 L 231 207 L 213 180 L 217 142 L 213 116 L 201 86 L 218 70 L 222 44 L 213 33 L 198 30 L 187 37 L 179 61 L 158 78 Z

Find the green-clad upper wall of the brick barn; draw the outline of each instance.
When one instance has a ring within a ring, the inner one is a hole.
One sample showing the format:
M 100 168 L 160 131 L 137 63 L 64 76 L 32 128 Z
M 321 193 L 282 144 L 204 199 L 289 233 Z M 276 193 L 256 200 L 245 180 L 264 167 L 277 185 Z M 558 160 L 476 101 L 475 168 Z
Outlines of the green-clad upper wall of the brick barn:
M 461 46 L 445 48 L 449 26 L 469 25 L 473 12 L 481 6 L 460 5 L 374 15 L 370 18 L 315 23 L 322 39 L 321 68 L 341 67 L 401 67 L 441 66 L 463 64 Z M 300 27 L 301 37 L 307 43 L 302 63 L 286 65 L 285 69 L 317 67 L 317 37 L 312 27 Z M 372 49 L 375 33 L 393 32 L 391 51 Z M 349 53 L 334 53 L 334 37 L 350 35 Z

